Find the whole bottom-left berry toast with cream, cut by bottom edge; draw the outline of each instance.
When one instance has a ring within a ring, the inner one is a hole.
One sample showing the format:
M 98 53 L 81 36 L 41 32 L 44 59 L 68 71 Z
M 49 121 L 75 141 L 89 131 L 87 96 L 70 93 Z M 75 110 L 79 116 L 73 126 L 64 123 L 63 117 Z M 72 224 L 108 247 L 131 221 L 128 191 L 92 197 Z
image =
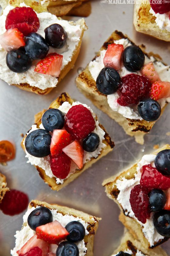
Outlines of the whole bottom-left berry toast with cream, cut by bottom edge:
M 31 201 L 23 216 L 22 229 L 16 232 L 11 254 L 57 256 L 69 250 L 73 255 L 92 256 L 99 220 L 65 206 Z

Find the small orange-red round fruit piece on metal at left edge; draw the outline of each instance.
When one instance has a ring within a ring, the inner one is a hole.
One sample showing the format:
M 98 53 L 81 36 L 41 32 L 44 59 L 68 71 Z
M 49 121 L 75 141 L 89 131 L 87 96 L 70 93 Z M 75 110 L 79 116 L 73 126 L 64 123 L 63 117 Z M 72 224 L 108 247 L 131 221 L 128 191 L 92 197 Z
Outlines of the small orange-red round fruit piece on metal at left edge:
M 8 140 L 0 141 L 0 163 L 10 161 L 15 158 L 15 147 Z

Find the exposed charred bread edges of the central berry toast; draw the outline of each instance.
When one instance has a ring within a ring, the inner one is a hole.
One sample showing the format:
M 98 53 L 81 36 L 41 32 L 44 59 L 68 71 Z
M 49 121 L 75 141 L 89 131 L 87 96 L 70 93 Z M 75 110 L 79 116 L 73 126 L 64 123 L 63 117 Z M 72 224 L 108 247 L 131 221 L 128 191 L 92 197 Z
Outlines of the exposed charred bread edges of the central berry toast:
M 73 99 L 71 99 L 67 93 L 62 93 L 60 97 L 58 97 L 55 101 L 53 101 L 51 103 L 49 108 L 59 108 L 59 106 L 62 105 L 63 102 L 65 102 L 65 101 L 68 101 L 70 104 L 73 103 Z M 44 112 L 44 110 L 43 110 L 43 112 Z M 41 123 L 41 117 L 42 117 L 43 112 L 38 113 L 38 117 L 40 118 L 39 121 L 36 122 L 36 125 L 38 127 Z M 36 119 L 37 119 L 37 116 L 36 116 Z M 105 131 L 105 129 L 102 125 L 100 125 L 100 127 Z M 26 137 L 26 135 L 25 135 L 25 137 Z M 23 142 L 25 140 L 25 137 L 23 138 L 22 143 L 21 143 L 21 146 L 24 151 L 25 151 L 25 145 L 23 144 Z M 39 166 L 35 166 L 37 171 L 39 172 L 40 177 L 44 180 L 45 183 L 47 183 L 49 185 L 49 187 L 51 187 L 52 190 L 60 190 L 61 188 L 65 187 L 71 181 L 75 180 L 82 172 L 84 172 L 86 169 L 88 169 L 92 164 L 97 162 L 97 160 L 99 160 L 104 155 L 107 155 L 110 151 L 112 151 L 112 149 L 114 147 L 114 143 L 111 141 L 111 138 L 109 137 L 109 135 L 107 134 L 106 131 L 105 131 L 104 138 L 105 138 L 105 140 L 103 141 L 103 143 L 106 145 L 106 147 L 102 149 L 102 151 L 100 152 L 100 155 L 98 155 L 97 158 L 91 158 L 90 161 L 88 161 L 87 163 L 85 163 L 83 165 L 82 169 L 76 170 L 76 172 L 74 172 L 73 174 L 70 174 L 70 176 L 64 180 L 63 184 L 56 184 L 55 177 L 50 178 L 49 176 L 46 175 L 45 171 L 42 168 L 40 168 Z

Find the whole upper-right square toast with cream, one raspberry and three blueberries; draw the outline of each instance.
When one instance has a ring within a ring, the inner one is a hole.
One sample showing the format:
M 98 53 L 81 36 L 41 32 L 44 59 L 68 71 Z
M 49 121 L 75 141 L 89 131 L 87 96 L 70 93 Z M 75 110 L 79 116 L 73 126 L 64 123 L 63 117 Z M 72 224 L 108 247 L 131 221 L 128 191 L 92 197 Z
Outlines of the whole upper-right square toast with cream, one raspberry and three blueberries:
M 161 81 L 165 76 L 161 67 L 169 72 L 169 66 L 116 30 L 79 74 L 77 87 L 143 144 L 144 134 L 151 130 L 169 101 L 170 81 Z

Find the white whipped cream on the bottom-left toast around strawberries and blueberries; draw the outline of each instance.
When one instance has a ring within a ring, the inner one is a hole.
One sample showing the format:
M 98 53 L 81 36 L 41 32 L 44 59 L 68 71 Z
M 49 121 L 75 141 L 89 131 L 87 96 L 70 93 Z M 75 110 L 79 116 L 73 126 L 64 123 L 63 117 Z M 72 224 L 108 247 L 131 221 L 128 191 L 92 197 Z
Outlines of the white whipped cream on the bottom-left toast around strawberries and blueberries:
M 38 207 L 38 206 L 37 206 Z M 37 208 L 36 207 L 36 208 Z M 11 255 L 12 256 L 18 256 L 17 251 L 20 250 L 22 248 L 22 246 L 24 244 L 26 244 L 26 242 L 36 234 L 36 232 L 32 229 L 30 229 L 30 227 L 28 226 L 27 223 L 27 219 L 29 214 L 36 209 L 35 207 L 32 207 L 30 209 L 27 210 L 27 212 L 25 213 L 25 215 L 23 216 L 23 223 L 24 226 L 20 231 L 16 231 L 15 234 L 15 248 L 13 250 L 11 250 Z M 85 222 L 83 219 L 79 218 L 79 217 L 74 217 L 73 215 L 63 215 L 59 212 L 57 212 L 57 210 L 50 210 L 52 215 L 53 215 L 53 221 L 57 220 L 60 222 L 60 224 L 65 227 L 69 222 L 71 221 L 79 221 L 83 224 L 84 228 L 85 228 L 85 234 L 88 235 L 89 232 L 87 231 L 87 226 L 88 223 Z M 84 240 L 77 242 L 77 247 L 79 248 L 79 256 L 84 256 L 86 254 L 87 251 L 87 247 L 84 243 Z M 55 250 L 57 249 L 57 245 L 55 245 Z

